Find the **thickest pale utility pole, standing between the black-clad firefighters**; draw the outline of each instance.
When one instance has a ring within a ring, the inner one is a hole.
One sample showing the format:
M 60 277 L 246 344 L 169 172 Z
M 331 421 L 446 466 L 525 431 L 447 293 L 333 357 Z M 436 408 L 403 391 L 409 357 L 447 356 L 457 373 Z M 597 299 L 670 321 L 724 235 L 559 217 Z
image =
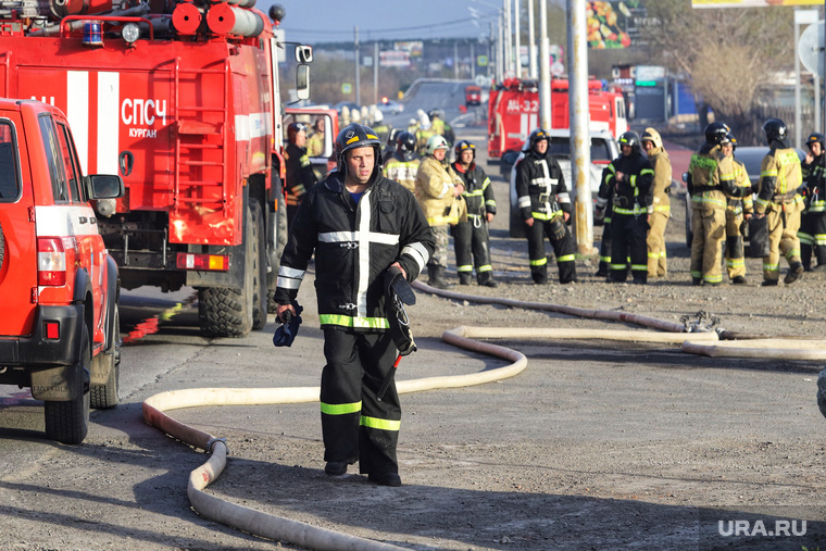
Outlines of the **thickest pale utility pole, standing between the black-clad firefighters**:
M 568 28 L 568 102 L 571 120 L 571 174 L 576 189 L 576 242 L 579 254 L 591 255 L 593 218 L 591 164 L 588 134 L 588 46 L 586 42 L 585 0 L 567 0 Z

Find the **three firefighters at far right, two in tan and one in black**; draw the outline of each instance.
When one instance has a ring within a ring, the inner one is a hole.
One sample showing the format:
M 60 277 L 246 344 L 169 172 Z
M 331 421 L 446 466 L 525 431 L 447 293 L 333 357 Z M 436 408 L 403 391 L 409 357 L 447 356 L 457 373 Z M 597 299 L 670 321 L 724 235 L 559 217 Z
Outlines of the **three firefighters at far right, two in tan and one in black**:
M 809 135 L 801 163 L 788 142 L 783 121 L 767 120 L 763 132 L 769 149 L 755 186 L 736 160 L 737 139 L 724 123 L 705 128 L 705 145 L 691 156 L 687 186 L 692 209 L 690 270 L 694 285 L 723 281 L 724 240 L 729 279 L 735 285 L 746 283 L 742 236 L 747 225 L 752 255 L 763 258 L 764 287 L 779 284 L 781 255 L 788 263 L 786 285 L 800 279 L 803 272 L 826 270 L 824 135 Z M 753 193 L 756 198 L 752 200 Z

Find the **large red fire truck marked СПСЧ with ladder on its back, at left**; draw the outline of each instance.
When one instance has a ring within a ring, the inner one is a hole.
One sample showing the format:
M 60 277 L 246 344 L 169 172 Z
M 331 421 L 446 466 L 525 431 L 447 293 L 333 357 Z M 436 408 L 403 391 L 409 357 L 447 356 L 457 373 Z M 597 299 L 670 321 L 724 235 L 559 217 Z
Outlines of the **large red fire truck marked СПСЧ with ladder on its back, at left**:
M 195 287 L 208 336 L 264 327 L 286 241 L 284 45 L 251 3 L 12 0 L 0 11 L 0 95 L 63 110 L 85 172 L 126 185 L 114 209 L 98 205 L 122 286 Z M 305 98 L 312 49 L 295 51 Z

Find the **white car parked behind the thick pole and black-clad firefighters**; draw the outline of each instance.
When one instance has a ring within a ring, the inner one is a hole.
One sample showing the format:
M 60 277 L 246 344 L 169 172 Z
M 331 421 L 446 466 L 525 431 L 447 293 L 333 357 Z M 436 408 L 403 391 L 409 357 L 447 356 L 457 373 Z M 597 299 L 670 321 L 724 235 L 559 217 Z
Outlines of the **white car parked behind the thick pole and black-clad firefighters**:
M 547 130 L 551 136 L 550 149 L 551 154 L 556 159 L 560 164 L 562 174 L 565 178 L 565 185 L 571 193 L 571 201 L 576 201 L 576 188 L 573 185 L 572 172 L 571 172 L 571 130 L 567 128 L 559 128 Z M 595 130 L 590 132 L 591 138 L 591 164 L 589 166 L 588 183 L 591 190 L 591 203 L 597 202 L 597 192 L 600 189 L 600 180 L 602 178 L 602 171 L 614 159 L 620 155 L 620 147 L 616 145 L 616 140 L 608 130 Z M 528 143 L 525 142 L 523 150 L 528 148 Z M 516 163 L 518 163 L 525 153 L 520 153 L 512 161 L 510 166 L 511 175 L 511 221 L 510 221 L 510 236 L 511 237 L 525 237 L 525 223 L 520 216 L 520 209 L 516 206 Z M 504 158 L 503 158 L 504 163 Z M 591 209 L 591 213 L 593 209 Z M 573 217 L 573 216 L 572 216 Z M 593 220 L 592 217 L 590 218 Z M 573 223 L 573 221 L 572 221 Z

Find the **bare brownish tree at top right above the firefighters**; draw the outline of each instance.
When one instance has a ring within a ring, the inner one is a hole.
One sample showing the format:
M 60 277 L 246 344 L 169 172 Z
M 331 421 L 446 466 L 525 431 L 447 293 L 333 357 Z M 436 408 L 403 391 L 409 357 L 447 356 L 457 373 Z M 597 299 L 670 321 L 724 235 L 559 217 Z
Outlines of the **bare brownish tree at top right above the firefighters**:
M 709 107 L 735 132 L 748 133 L 771 73 L 793 62 L 792 11 L 693 10 L 690 0 L 646 5 L 660 23 L 646 30 L 651 50 L 660 63 L 690 79 L 701 123 Z

